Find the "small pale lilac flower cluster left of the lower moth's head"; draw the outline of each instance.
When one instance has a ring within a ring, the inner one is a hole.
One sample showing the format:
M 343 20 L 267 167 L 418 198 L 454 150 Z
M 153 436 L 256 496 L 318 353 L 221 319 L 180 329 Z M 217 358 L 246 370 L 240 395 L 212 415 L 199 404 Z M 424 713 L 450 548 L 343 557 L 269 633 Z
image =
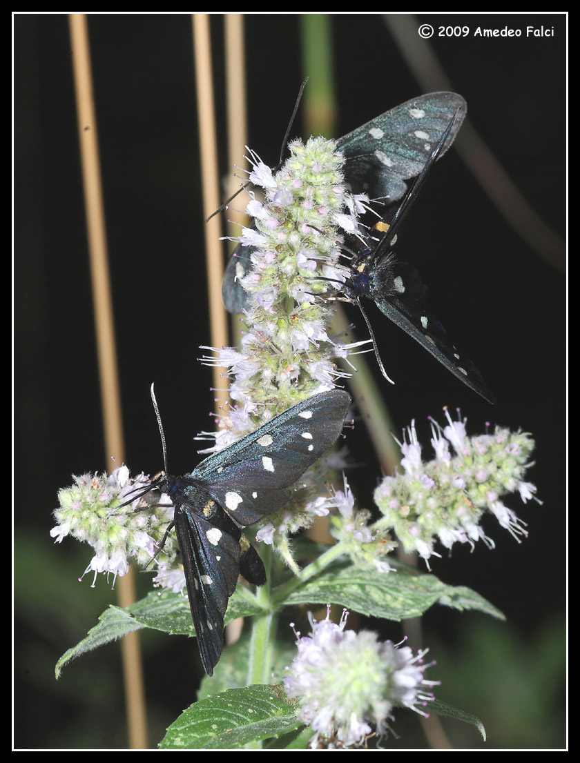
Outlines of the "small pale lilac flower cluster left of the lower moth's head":
M 94 588 L 102 572 L 107 578 L 113 575 L 114 585 L 118 575 L 126 575 L 131 561 L 143 566 L 151 562 L 171 520 L 173 507 L 169 498 L 152 493 L 140 496 L 151 479 L 142 473 L 130 478 L 125 465 L 111 475 L 73 475 L 73 479 L 74 485 L 59 491 L 60 505 L 53 512 L 57 525 L 50 530 L 50 536 L 60 543 L 70 535 L 94 549 L 79 580 L 92 571 Z M 133 494 L 135 500 L 121 507 Z M 164 548 L 164 561 L 167 563 L 172 555 L 175 550 L 170 542 Z

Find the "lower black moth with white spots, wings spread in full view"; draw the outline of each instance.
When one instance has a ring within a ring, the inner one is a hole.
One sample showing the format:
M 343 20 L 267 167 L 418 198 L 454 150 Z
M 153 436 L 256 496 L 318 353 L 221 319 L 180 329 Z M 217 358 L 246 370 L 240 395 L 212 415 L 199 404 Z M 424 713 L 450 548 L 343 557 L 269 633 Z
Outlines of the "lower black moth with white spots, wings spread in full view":
M 153 387 L 151 396 L 165 458 Z M 238 575 L 254 585 L 266 581 L 258 552 L 241 528 L 287 504 L 291 486 L 335 443 L 350 403 L 343 390 L 316 394 L 212 454 L 190 474 L 169 475 L 166 465 L 148 488 L 167 493 L 175 507 L 166 537 L 175 526 L 199 654 L 208 675 L 222 654 L 225 610 Z

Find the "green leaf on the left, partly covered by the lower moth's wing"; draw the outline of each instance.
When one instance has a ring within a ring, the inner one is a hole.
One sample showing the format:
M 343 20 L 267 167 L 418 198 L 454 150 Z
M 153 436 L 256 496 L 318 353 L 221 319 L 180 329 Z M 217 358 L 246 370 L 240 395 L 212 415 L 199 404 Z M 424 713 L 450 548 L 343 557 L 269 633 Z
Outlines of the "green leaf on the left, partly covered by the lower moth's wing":
M 229 600 L 225 623 L 237 617 L 251 617 L 260 611 L 258 602 L 248 590 L 238 586 Z M 73 658 L 141 628 L 154 628 L 165 633 L 186 636 L 195 636 L 196 633 L 191 620 L 190 604 L 186 597 L 173 594 L 172 591 L 153 591 L 125 610 L 113 605 L 109 606 L 109 609 L 99 617 L 99 623 L 89 630 L 86 638 L 65 652 L 57 662 L 55 668 L 57 678 L 60 677 L 64 665 Z

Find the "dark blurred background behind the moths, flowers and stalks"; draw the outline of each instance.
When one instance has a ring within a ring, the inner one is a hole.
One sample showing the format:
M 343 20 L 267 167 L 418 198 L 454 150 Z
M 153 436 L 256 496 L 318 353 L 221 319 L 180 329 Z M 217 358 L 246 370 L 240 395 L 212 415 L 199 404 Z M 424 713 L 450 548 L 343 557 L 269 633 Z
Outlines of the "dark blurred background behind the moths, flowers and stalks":
M 74 662 L 60 681 L 53 678 L 57 658 L 83 638 L 115 593 L 104 578 L 95 589 L 87 578 L 76 581 L 91 551 L 70 539 L 53 546 L 51 511 L 71 473 L 102 471 L 111 454 L 102 444 L 67 18 L 17 14 L 13 20 L 14 745 L 122 748 L 118 645 Z M 300 17 L 256 14 L 245 22 L 249 144 L 274 164 L 305 73 Z M 467 100 L 475 129 L 563 237 L 566 17 L 434 14 L 417 23 L 555 27 L 554 37 L 526 38 L 524 31 L 517 39 L 436 37 L 431 43 L 452 88 Z M 219 124 L 225 121 L 222 27 L 222 16 L 212 16 Z M 380 15 L 333 15 L 332 32 L 337 134 L 422 92 Z M 90 15 L 89 34 L 126 458 L 132 472 L 160 468 L 149 398 L 155 381 L 172 468 L 181 473 L 198 461 L 193 435 L 212 427 L 211 372 L 197 362 L 209 329 L 190 16 Z M 300 114 L 293 133 L 307 137 Z M 225 156 L 225 129 L 220 140 Z M 228 171 L 224 163 L 222 172 Z M 562 263 L 546 262 L 523 243 L 455 150 L 433 172 L 400 251 L 420 270 L 433 312 L 475 360 L 497 405 L 460 385 L 384 320 L 377 333 L 397 381 L 384 385 L 394 426 L 400 431 L 414 418 L 427 446 L 426 417 L 440 417 L 448 404 L 461 407 L 470 433 L 483 430 L 486 421 L 532 433 L 536 465 L 529 479 L 543 501 L 523 506 L 519 498 L 509 499 L 530 531 L 520 545 L 493 520 L 485 529 L 497 543 L 494 551 L 478 544 L 473 553 L 454 549 L 451 559 L 434 560 L 436 575 L 474 588 L 507 615 L 506 624 L 442 607 L 427 614 L 425 641 L 442 679 L 438 696 L 482 718 L 487 749 L 562 746 Z M 371 507 L 379 468 L 368 455 L 364 427 L 349 433 L 348 443 L 357 460 L 366 459 L 350 481 L 359 504 Z M 139 576 L 143 594 L 148 581 Z M 394 626 L 385 636 L 397 640 L 400 633 Z M 195 699 L 199 673 L 196 650 L 186 639 L 146 633 L 143 641 L 155 746 L 165 726 Z M 413 737 L 405 723 L 397 720 L 402 739 L 394 745 L 422 747 L 420 732 Z M 481 745 L 468 727 L 447 728 L 455 747 Z

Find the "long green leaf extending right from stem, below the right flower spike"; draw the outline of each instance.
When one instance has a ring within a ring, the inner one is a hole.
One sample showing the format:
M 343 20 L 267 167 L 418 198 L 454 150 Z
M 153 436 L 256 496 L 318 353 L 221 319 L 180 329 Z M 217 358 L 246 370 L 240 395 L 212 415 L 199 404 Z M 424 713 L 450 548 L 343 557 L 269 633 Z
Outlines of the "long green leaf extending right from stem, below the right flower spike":
M 387 620 L 418 617 L 433 604 L 442 604 L 505 619 L 493 604 L 465 586 L 447 585 L 435 575 L 421 575 L 402 565 L 384 575 L 345 560 L 329 565 L 316 578 L 305 581 L 283 604 L 341 604 Z

